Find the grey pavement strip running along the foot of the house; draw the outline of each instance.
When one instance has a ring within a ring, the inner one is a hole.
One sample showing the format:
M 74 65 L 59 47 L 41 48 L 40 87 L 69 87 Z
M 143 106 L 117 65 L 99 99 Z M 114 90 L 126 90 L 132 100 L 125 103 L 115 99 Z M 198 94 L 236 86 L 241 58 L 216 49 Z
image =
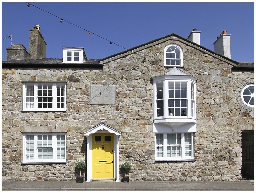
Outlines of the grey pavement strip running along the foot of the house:
M 2 191 L 13 190 L 107 190 L 107 191 L 253 191 L 254 180 L 241 180 L 237 182 L 221 181 L 130 181 L 128 183 L 113 181 L 93 181 L 77 183 L 76 181 L 3 181 Z

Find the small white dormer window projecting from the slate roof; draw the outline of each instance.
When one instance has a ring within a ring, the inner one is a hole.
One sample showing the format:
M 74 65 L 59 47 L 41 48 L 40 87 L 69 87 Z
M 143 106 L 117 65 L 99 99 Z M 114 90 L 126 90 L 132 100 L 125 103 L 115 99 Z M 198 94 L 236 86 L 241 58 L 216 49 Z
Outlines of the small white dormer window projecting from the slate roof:
M 87 60 L 84 48 L 62 47 L 64 63 L 83 63 Z

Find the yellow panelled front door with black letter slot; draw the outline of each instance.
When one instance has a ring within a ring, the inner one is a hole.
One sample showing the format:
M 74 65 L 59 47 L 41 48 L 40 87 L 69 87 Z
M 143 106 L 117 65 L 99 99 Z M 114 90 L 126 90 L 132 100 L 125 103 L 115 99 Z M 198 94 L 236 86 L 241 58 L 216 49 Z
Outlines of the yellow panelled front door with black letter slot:
M 113 134 L 92 135 L 92 179 L 114 178 Z

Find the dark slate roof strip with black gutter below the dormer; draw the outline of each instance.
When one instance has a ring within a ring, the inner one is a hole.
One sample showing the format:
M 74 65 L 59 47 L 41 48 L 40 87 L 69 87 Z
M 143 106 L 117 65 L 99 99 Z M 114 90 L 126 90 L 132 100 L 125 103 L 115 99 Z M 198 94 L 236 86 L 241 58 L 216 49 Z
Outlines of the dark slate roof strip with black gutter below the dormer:
M 63 63 L 62 58 L 43 58 L 43 59 L 26 59 L 2 61 L 2 68 L 103 68 L 98 59 L 89 59 L 83 63 Z M 33 66 L 32 66 L 33 65 Z

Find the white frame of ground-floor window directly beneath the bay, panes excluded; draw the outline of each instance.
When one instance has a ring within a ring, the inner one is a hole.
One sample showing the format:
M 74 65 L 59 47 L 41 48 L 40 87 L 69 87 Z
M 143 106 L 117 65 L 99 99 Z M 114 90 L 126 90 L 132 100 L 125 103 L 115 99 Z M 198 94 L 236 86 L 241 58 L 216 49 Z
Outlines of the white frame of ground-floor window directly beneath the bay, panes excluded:
M 157 134 L 163 134 L 164 138 L 164 154 L 162 157 L 157 157 Z M 168 146 L 168 134 L 181 134 L 181 156 L 168 157 L 167 146 Z M 191 134 L 191 156 L 185 156 L 185 134 Z M 194 160 L 194 133 L 155 133 L 155 160 L 156 161 L 193 161 Z

